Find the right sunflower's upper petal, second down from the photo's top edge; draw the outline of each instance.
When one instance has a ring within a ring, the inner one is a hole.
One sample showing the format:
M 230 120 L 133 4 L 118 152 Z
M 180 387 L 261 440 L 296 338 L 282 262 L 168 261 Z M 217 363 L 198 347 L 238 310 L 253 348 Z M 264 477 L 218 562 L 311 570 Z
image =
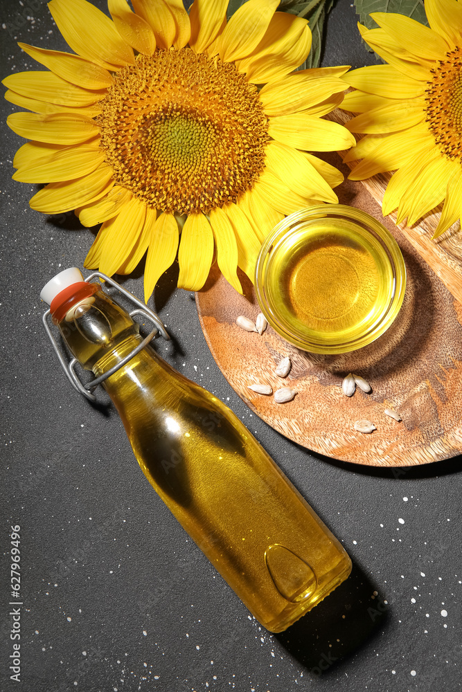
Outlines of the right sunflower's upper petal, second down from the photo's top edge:
M 373 12 L 371 18 L 406 50 L 426 60 L 439 60 L 447 53 L 447 42 L 420 21 L 395 12 Z

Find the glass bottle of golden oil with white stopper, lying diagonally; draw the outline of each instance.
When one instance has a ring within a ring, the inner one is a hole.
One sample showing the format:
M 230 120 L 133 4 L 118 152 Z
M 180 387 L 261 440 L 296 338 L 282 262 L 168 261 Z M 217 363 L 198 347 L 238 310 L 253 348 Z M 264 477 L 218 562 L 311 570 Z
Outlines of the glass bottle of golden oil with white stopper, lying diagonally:
M 139 325 L 68 269 L 41 293 L 96 377 L 139 347 Z M 143 473 L 258 621 L 281 632 L 350 574 L 351 562 L 233 412 L 147 345 L 103 386 Z

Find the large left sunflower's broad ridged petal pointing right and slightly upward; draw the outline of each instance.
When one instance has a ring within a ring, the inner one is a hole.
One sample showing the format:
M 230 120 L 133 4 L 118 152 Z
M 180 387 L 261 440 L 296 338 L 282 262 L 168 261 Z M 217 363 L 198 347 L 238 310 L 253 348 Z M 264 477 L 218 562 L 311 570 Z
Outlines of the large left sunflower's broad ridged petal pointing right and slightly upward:
M 260 90 L 260 101 L 267 116 L 283 116 L 308 109 L 346 89 L 345 82 L 335 77 L 299 80 L 293 79 L 295 76 L 271 82 Z

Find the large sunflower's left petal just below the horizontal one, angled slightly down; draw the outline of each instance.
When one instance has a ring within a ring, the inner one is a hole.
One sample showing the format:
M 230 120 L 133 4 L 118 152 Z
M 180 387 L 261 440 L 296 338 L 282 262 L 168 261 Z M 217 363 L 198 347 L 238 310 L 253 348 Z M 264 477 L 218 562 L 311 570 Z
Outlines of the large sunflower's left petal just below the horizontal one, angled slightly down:
M 69 147 L 56 152 L 44 162 L 27 163 L 12 176 L 13 180 L 21 183 L 57 183 L 75 180 L 92 173 L 100 163 L 103 163 L 103 151 L 95 151 L 93 147 Z

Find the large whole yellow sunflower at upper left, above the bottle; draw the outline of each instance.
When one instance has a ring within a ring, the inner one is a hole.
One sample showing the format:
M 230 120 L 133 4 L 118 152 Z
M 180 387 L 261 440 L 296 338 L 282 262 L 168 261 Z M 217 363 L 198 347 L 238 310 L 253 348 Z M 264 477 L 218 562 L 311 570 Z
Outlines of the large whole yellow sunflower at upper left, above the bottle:
M 214 257 L 241 291 L 263 238 L 284 215 L 335 202 L 339 171 L 308 152 L 354 138 L 321 116 L 339 105 L 346 67 L 293 71 L 307 21 L 249 0 L 86 0 L 48 8 L 75 55 L 19 44 L 49 71 L 10 75 L 6 98 L 32 111 L 8 125 L 30 141 L 13 178 L 48 183 L 30 200 L 102 223 L 88 268 L 130 273 L 146 255 L 145 300 L 178 254 L 178 285 L 200 289 Z

